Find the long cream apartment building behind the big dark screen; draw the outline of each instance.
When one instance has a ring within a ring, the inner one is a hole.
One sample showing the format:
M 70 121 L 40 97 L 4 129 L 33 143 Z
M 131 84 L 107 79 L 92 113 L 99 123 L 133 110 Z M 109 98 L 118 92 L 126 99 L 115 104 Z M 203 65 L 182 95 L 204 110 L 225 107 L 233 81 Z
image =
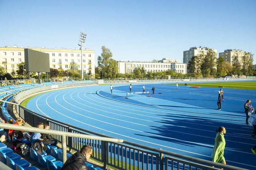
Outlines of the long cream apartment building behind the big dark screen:
M 74 65 L 77 66 L 81 72 L 81 50 L 72 48 L 41 48 L 41 47 L 27 47 L 32 50 L 49 53 L 50 68 L 68 70 Z M 95 60 L 94 51 L 85 49 L 83 50 L 83 72 L 94 76 L 95 74 Z M 17 70 L 17 64 L 24 62 L 24 48 L 5 46 L 0 47 L 0 65 L 5 69 L 6 73 L 11 73 L 12 70 Z M 40 64 L 40 63 L 39 63 Z

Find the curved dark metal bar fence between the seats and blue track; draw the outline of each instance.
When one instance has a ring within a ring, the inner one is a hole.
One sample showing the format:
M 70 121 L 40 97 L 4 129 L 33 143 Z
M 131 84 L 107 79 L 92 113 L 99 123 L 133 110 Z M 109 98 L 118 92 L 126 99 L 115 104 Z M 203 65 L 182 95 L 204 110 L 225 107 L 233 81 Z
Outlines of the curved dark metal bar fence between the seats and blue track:
M 32 90 L 32 89 L 30 89 Z M 30 90 L 17 94 L 16 99 L 24 100 L 29 95 Z M 34 89 L 35 90 L 35 89 Z M 15 100 L 16 102 L 16 100 Z M 21 118 L 32 126 L 37 122 L 48 123 L 52 130 L 61 131 L 60 133 L 71 132 L 75 134 L 97 135 L 99 137 L 112 138 L 104 134 L 89 131 L 68 123 L 35 113 L 21 105 L 15 105 L 16 111 Z M 22 127 L 21 127 L 22 128 Z M 38 128 L 37 128 L 38 129 Z M 48 131 L 50 132 L 50 131 Z M 62 137 L 61 135 L 53 135 L 60 142 L 67 143 L 69 150 L 80 150 L 84 144 L 91 145 L 93 148 L 93 156 L 95 160 L 102 162 L 104 168 L 107 165 L 118 168 L 120 170 L 146 169 L 146 170 L 169 170 L 169 169 L 209 169 L 217 170 L 224 168 L 226 170 L 245 170 L 239 167 L 223 165 L 200 158 L 190 157 L 179 153 L 169 152 L 166 150 L 148 147 L 138 143 L 124 140 L 123 143 L 108 142 L 91 138 L 81 137 Z M 63 154 L 66 155 L 66 154 Z M 214 167 L 212 167 L 214 166 Z

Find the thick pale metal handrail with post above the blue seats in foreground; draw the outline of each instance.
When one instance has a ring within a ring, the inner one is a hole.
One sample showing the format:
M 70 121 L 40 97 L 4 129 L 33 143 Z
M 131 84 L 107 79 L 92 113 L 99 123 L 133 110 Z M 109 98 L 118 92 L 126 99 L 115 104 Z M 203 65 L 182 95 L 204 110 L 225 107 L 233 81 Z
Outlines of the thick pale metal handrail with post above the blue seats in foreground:
M 71 132 L 61 132 L 61 131 L 57 131 L 57 130 L 26 127 L 26 126 L 19 126 L 19 125 L 13 125 L 13 124 L 8 124 L 8 123 L 0 123 L 0 128 L 13 129 L 13 130 L 24 130 L 27 132 L 39 132 L 39 133 L 46 133 L 46 134 L 61 136 L 62 137 L 63 163 L 65 163 L 67 160 L 66 137 L 84 138 L 84 139 L 88 139 L 88 140 L 101 140 L 101 141 L 106 141 L 106 142 L 123 142 L 122 139 L 116 139 L 116 138 L 106 138 L 106 137 L 99 137 L 99 136 L 93 136 L 93 135 L 83 135 L 83 134 L 71 133 Z

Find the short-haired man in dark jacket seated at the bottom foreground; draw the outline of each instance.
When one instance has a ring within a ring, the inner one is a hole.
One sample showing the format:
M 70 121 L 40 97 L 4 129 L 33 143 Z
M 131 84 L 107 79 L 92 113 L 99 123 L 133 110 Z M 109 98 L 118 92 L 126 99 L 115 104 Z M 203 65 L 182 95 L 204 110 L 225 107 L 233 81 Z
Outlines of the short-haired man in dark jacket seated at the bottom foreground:
M 93 155 L 90 145 L 84 145 L 79 152 L 74 153 L 62 166 L 61 170 L 88 170 L 85 162 Z

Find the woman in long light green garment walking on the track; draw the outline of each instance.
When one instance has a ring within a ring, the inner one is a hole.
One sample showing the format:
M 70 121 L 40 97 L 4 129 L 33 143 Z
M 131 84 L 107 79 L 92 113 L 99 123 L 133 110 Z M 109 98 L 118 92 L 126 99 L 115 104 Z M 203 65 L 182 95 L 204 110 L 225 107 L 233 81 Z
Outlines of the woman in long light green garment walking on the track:
M 226 165 L 226 161 L 224 158 L 224 148 L 226 145 L 224 134 L 226 133 L 225 127 L 219 127 L 218 130 L 216 130 L 217 135 L 215 138 L 214 148 L 212 151 L 212 161 L 217 163 L 223 163 Z

